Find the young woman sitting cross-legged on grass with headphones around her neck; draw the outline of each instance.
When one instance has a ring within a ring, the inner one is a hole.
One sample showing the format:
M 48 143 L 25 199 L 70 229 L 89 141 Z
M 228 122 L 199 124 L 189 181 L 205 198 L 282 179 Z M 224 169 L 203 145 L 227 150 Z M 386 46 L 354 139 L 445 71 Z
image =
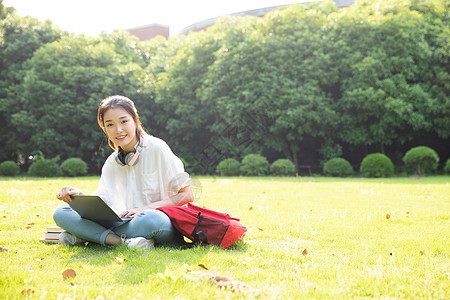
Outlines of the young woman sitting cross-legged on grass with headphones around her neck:
M 194 200 L 191 180 L 181 160 L 163 140 L 144 131 L 134 103 L 126 97 L 104 99 L 98 108 L 97 121 L 115 151 L 103 165 L 98 189 L 93 194 L 100 196 L 120 217 L 132 219 L 118 227 L 105 228 L 81 218 L 69 204 L 71 195 L 84 193 L 64 186 L 56 197 L 66 204 L 53 214 L 56 224 L 66 230 L 60 243 L 126 243 L 130 248 L 152 249 L 154 244 L 182 241 L 170 219 L 155 210 Z

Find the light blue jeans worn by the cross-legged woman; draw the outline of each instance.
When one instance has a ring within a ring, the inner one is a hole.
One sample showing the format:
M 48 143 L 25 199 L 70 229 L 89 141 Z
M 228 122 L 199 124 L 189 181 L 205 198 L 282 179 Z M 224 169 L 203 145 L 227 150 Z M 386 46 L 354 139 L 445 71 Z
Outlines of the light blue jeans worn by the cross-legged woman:
M 53 213 L 56 225 L 67 232 L 105 246 L 108 234 L 127 238 L 144 237 L 154 239 L 155 244 L 180 244 L 181 234 L 172 226 L 169 217 L 159 210 L 144 210 L 131 221 L 114 228 L 105 228 L 91 220 L 83 219 L 68 204 L 60 205 Z

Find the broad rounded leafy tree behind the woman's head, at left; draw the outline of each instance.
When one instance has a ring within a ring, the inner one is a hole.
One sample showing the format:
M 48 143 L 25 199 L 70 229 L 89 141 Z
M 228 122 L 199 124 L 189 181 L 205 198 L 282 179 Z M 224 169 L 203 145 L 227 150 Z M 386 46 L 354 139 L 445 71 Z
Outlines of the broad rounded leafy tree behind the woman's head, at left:
M 145 93 L 145 72 L 115 46 L 66 36 L 35 51 L 16 92 L 19 110 L 11 114 L 11 124 L 21 133 L 10 138 L 18 151 L 81 157 L 101 166 L 109 151 L 98 150 L 103 142 L 95 118 L 99 101 L 126 94 L 139 107 Z

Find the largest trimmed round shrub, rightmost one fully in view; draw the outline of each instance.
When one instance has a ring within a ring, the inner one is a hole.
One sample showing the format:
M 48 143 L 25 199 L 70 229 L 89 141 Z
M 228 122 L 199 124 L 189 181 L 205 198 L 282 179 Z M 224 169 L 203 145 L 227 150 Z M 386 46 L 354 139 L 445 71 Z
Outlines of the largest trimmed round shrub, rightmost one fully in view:
M 435 170 L 439 164 L 437 153 L 426 146 L 411 148 L 403 156 L 403 162 L 414 169 L 417 175 L 423 175 Z

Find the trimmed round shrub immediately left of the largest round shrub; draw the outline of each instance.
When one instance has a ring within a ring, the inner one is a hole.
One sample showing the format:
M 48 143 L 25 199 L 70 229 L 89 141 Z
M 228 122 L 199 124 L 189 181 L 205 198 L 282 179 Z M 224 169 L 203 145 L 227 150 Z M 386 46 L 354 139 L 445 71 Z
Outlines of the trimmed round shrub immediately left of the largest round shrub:
M 390 177 L 394 174 L 394 164 L 386 155 L 372 153 L 363 159 L 360 171 L 364 177 Z

